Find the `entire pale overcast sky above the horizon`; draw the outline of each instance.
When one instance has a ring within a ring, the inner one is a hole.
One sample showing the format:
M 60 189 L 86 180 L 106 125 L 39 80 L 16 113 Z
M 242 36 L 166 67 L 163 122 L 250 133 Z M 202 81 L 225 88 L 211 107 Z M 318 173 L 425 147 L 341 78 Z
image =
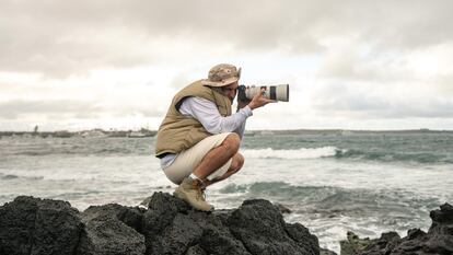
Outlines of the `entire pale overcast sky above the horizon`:
M 0 0 L 0 130 L 159 128 L 211 66 L 290 84 L 249 129 L 453 129 L 450 0 Z

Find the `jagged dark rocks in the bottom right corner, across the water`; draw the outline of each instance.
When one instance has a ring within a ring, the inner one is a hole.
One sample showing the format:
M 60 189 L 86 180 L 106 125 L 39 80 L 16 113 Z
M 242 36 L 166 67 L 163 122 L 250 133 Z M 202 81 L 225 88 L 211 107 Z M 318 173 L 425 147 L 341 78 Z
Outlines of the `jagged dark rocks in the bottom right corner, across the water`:
M 407 231 L 402 239 L 395 232 L 383 233 L 380 239 L 359 239 L 348 232 L 347 240 L 341 241 L 341 255 L 421 255 L 453 254 L 453 206 L 444 204 L 440 210 L 430 212 L 432 224 L 428 233 L 420 229 Z

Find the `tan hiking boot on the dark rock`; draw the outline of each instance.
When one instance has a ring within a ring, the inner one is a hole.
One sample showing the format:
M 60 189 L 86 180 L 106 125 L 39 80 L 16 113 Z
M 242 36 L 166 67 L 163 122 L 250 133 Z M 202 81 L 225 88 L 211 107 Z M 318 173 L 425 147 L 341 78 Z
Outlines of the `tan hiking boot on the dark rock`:
M 213 206 L 205 200 L 205 194 L 200 186 L 201 185 L 197 179 L 185 177 L 173 193 L 173 196 L 187 201 L 197 210 L 213 211 Z

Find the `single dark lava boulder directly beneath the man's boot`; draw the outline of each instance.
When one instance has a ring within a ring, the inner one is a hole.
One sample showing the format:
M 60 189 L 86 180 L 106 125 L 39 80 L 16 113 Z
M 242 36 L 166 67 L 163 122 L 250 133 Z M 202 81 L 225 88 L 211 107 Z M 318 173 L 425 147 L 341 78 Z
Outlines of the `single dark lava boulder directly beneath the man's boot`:
M 147 254 L 249 254 L 223 224 L 220 212 L 194 210 L 165 193 L 154 193 L 143 215 Z

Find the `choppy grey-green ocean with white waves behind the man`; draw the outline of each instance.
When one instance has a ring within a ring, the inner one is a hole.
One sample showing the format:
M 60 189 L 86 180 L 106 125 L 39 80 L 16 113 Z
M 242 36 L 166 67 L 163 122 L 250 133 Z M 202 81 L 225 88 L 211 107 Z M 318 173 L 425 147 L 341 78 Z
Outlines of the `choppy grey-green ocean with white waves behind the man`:
M 0 205 L 19 195 L 68 200 L 79 210 L 137 206 L 175 188 L 148 138 L 0 138 Z M 264 198 L 288 207 L 320 245 L 339 252 L 347 231 L 382 232 L 431 224 L 429 211 L 453 202 L 453 132 L 255 131 L 244 137 L 243 169 L 211 186 L 216 208 Z

